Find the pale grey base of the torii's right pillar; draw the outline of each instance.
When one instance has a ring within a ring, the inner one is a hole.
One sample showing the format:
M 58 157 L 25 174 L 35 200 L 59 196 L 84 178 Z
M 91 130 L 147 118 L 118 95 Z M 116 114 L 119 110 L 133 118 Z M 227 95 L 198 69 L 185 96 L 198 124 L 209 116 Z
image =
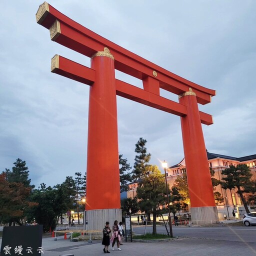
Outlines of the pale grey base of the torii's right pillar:
M 218 212 L 216 206 L 191 207 L 191 221 L 193 224 L 218 223 Z

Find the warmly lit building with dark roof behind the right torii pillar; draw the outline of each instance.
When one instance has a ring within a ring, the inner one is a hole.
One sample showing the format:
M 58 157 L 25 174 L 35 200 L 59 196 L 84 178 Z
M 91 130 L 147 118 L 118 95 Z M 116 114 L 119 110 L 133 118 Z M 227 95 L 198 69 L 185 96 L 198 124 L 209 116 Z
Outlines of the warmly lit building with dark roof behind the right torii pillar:
M 243 156 L 243 157 L 233 157 L 228 155 L 210 153 L 207 151 L 207 158 L 209 167 L 211 167 L 215 174 L 216 179 L 221 180 L 222 174 L 221 170 L 229 167 L 230 165 L 246 164 L 252 173 L 252 180 L 256 180 L 256 154 Z M 170 166 L 167 171 L 167 182 L 169 187 L 172 187 L 178 176 L 183 174 L 185 168 L 185 158 L 183 158 L 179 163 Z M 199 171 L 199 170 L 198 170 Z M 136 188 L 138 187 L 138 182 L 129 183 L 129 190 L 127 191 L 127 197 L 134 197 L 136 195 Z M 217 206 L 219 218 L 224 218 L 224 214 L 227 218 L 232 218 L 232 210 L 235 211 L 237 218 L 242 218 L 245 213 L 241 198 L 236 192 L 237 189 L 223 189 L 220 185 L 216 187 L 216 190 L 220 192 L 223 197 L 223 203 Z M 255 205 L 250 205 L 251 209 L 254 209 Z M 188 206 L 189 208 L 189 206 Z M 256 207 L 255 207 L 256 208 Z M 188 209 L 189 210 L 189 209 Z

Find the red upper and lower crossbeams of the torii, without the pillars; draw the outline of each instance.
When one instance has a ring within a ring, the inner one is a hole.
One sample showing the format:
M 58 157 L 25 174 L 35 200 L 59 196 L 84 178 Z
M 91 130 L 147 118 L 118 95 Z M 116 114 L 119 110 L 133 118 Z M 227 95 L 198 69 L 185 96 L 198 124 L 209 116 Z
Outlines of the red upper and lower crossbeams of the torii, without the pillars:
M 129 91 L 132 89 L 134 93 L 131 95 L 127 93 L 128 89 L 125 90 L 124 88 L 125 86 L 127 88 L 127 86 L 130 84 L 116 79 L 117 95 L 150 105 L 163 111 L 183 116 L 186 114 L 186 110 L 183 109 L 184 107 L 180 103 L 168 99 L 165 100 L 165 98 L 161 97 L 160 101 L 163 103 L 159 105 L 158 103 L 150 102 L 148 98 L 155 96 L 160 97 L 159 88 L 165 89 L 177 95 L 182 94 L 191 88 L 192 91 L 195 92 L 197 102 L 200 104 L 206 104 L 211 102 L 211 96 L 216 94 L 215 90 L 208 89 L 188 81 L 185 78 L 167 71 L 166 69 L 128 51 L 127 49 L 111 42 L 110 40 L 107 40 L 106 38 L 96 34 L 95 32 L 65 16 L 47 2 L 43 2 L 39 6 L 36 12 L 36 21 L 37 23 L 50 30 L 51 40 L 58 42 L 79 53 L 82 53 L 88 57 L 91 57 L 95 52 L 103 50 L 104 47 L 107 47 L 111 54 L 114 56 L 115 69 L 132 75 L 143 81 L 144 89 L 139 89 L 135 86 L 133 86 L 134 88 L 129 87 Z M 51 70 L 52 72 L 59 73 L 69 78 L 71 77 L 72 79 L 86 84 L 91 84 L 93 82 L 93 79 L 90 79 L 88 75 L 86 75 L 86 77 L 84 76 L 85 73 L 90 73 L 90 77 L 93 76 L 90 68 L 72 61 L 72 63 L 77 67 L 76 70 L 82 70 L 81 72 L 76 71 L 76 74 L 74 74 L 74 71 L 67 70 L 69 66 L 68 62 L 70 60 L 61 56 L 59 56 L 57 60 L 63 62 L 62 64 L 58 62 L 58 66 L 53 67 Z M 62 68 L 65 66 L 66 70 L 62 70 L 60 66 L 62 66 Z M 72 70 L 74 70 L 74 68 L 72 68 Z M 138 99 L 137 94 L 144 94 L 144 97 Z M 201 111 L 199 112 L 202 123 L 213 123 L 211 115 Z

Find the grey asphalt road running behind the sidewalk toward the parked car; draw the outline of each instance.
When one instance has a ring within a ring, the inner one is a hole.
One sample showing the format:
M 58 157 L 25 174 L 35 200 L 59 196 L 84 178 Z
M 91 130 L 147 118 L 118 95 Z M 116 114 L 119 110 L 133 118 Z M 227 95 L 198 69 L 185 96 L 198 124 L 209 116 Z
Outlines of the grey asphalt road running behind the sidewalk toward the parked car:
M 145 227 L 133 226 L 137 234 L 144 233 Z M 166 234 L 164 226 L 157 226 L 157 233 Z M 146 232 L 152 232 L 152 226 L 147 227 Z M 218 226 L 218 227 L 175 227 L 172 226 L 173 236 L 189 238 L 208 238 L 226 241 L 242 241 L 256 243 L 256 226 Z

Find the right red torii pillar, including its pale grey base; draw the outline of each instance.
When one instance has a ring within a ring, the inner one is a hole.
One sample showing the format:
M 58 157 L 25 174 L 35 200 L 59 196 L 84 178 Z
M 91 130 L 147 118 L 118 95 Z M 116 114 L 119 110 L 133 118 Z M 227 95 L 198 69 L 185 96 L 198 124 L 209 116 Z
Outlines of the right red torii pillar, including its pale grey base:
M 180 120 L 191 220 L 198 224 L 218 222 L 196 95 L 191 88 L 179 95 L 179 103 L 187 106 L 187 115 Z

